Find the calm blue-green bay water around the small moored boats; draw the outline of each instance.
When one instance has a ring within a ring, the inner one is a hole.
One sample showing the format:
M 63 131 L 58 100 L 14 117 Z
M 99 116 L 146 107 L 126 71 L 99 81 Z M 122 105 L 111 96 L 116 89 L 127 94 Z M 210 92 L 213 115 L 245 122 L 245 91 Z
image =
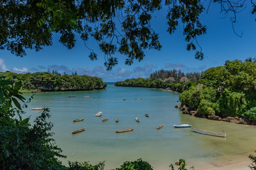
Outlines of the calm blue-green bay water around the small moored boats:
M 142 99 L 135 100 L 137 97 Z M 193 160 L 196 167 L 196 162 L 202 160 L 205 164 L 218 164 L 236 156 L 247 157 L 248 152 L 256 150 L 255 127 L 184 115 L 174 108 L 178 99 L 179 94 L 164 90 L 110 84 L 106 90 L 36 94 L 27 114 L 34 118 L 39 112 L 31 111 L 31 108 L 50 108 L 54 138 L 67 155 L 67 159 L 62 160 L 65 164 L 67 160 L 86 160 L 92 164 L 106 160 L 106 169 L 110 169 L 125 160 L 142 158 L 154 169 L 168 169 L 170 163 L 184 158 L 188 162 Z M 100 118 L 95 117 L 98 111 L 103 112 Z M 149 118 L 144 116 L 145 113 Z M 102 122 L 106 117 L 109 120 Z M 118 123 L 115 122 L 117 117 L 120 119 Z M 137 123 L 135 117 L 141 122 Z M 84 118 L 84 122 L 73 123 L 76 118 Z M 164 127 L 157 131 L 156 127 L 161 124 Z M 191 129 L 174 129 L 173 124 L 224 131 L 227 138 L 204 136 Z M 72 131 L 83 127 L 86 127 L 85 132 L 72 135 Z M 115 133 L 128 128 L 134 131 Z

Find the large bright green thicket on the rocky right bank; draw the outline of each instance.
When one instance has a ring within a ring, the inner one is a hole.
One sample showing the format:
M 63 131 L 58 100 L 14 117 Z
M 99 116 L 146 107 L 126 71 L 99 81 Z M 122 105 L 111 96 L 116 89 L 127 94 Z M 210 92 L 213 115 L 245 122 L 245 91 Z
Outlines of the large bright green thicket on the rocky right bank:
M 180 94 L 182 104 L 198 115 L 244 117 L 256 121 L 256 62 L 241 60 L 212 67 Z

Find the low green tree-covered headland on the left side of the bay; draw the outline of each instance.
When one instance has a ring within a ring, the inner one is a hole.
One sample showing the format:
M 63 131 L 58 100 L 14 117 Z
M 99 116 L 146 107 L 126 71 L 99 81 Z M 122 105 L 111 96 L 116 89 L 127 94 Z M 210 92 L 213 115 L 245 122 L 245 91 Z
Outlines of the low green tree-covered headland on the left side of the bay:
M 36 91 L 67 91 L 67 90 L 93 90 L 103 89 L 106 83 L 101 78 L 91 76 L 77 76 L 68 74 L 52 73 L 26 73 L 17 74 L 10 71 L 0 73 L 0 78 L 10 81 L 12 84 L 16 81 L 22 82 L 22 92 Z

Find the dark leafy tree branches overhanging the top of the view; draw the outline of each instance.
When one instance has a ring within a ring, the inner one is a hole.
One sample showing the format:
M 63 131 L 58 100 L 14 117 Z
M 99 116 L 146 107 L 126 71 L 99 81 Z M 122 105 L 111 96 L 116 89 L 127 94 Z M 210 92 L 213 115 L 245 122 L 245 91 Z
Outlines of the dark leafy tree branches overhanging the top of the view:
M 211 2 L 219 3 L 221 12 L 232 13 L 232 25 L 239 10 L 246 6 L 241 0 L 214 0 L 209 1 L 209 6 Z M 252 15 L 256 15 L 256 5 L 251 3 Z M 60 35 L 60 43 L 71 49 L 78 35 L 91 51 L 92 60 L 97 60 L 97 53 L 87 42 L 95 39 L 99 43 L 107 69 L 118 64 L 118 55 L 126 55 L 125 64 L 131 65 L 134 59 L 143 59 L 145 50 L 161 49 L 150 20 L 155 11 L 168 6 L 166 30 L 172 34 L 179 24 L 184 25 L 187 50 L 196 50 L 196 59 L 204 59 L 196 39 L 207 31 L 200 21 L 202 12 L 209 8 L 205 9 L 204 4 L 202 0 L 3 0 L 0 2 L 0 49 L 22 57 L 26 49 L 39 51 L 52 45 L 54 33 Z

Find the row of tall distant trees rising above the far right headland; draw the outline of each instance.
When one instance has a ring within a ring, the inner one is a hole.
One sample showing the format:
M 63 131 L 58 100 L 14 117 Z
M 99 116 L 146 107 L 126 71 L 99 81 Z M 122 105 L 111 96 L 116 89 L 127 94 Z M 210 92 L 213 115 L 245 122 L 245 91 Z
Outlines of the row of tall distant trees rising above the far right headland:
M 180 81 L 180 78 L 182 77 L 188 78 L 189 81 L 196 82 L 200 80 L 201 73 L 198 73 L 198 72 L 184 73 L 180 70 L 177 71 L 175 69 L 173 70 L 161 69 L 159 71 L 155 71 L 154 73 L 150 74 L 150 78 L 161 78 L 161 79 L 172 78 L 173 81 Z

